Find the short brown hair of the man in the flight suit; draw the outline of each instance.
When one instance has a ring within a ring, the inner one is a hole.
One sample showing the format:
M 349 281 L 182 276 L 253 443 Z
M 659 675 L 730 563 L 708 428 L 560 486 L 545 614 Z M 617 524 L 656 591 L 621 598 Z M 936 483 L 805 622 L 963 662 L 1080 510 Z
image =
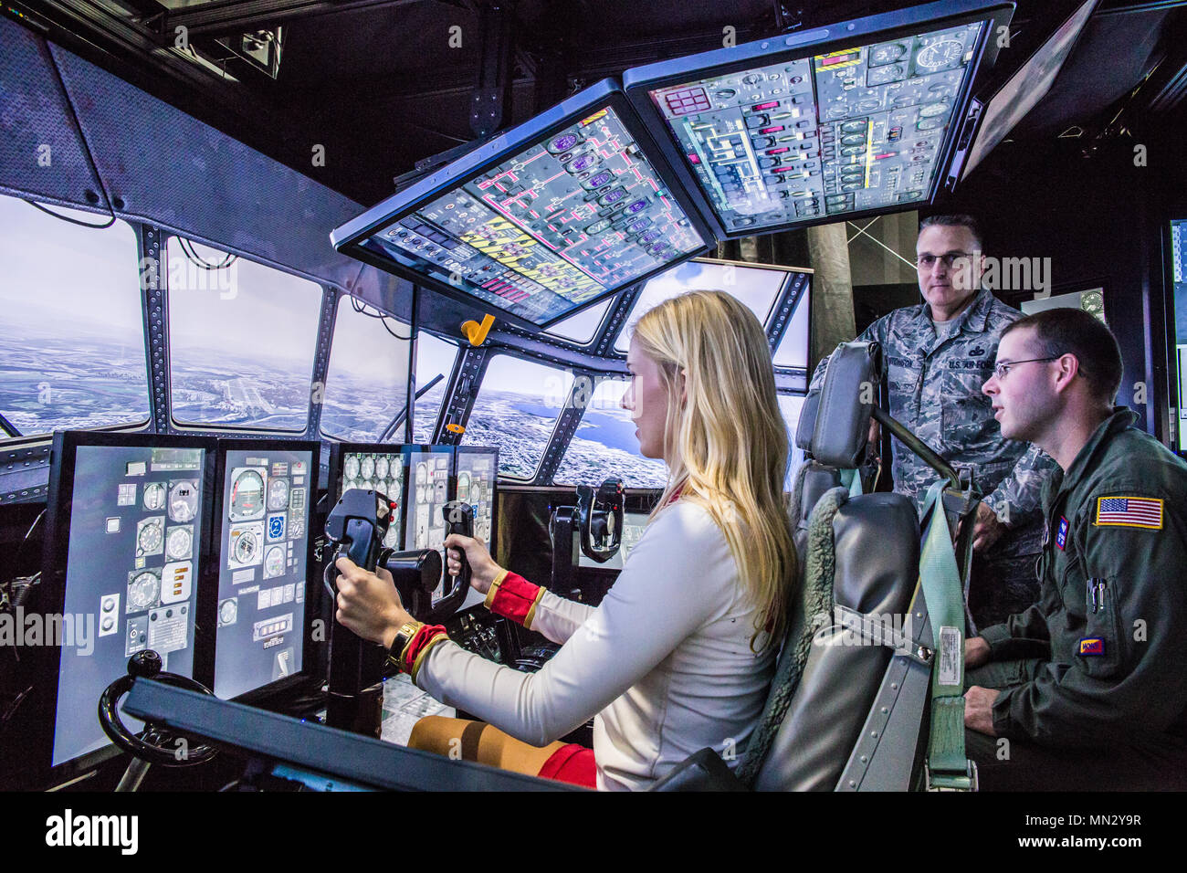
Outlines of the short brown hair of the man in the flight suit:
M 1112 406 L 1121 387 L 1121 348 L 1104 322 L 1083 309 L 1056 306 L 1026 315 L 1002 331 L 1034 328 L 1043 356 L 1075 355 L 1080 375 L 1088 382 L 1092 396 L 1105 406 Z

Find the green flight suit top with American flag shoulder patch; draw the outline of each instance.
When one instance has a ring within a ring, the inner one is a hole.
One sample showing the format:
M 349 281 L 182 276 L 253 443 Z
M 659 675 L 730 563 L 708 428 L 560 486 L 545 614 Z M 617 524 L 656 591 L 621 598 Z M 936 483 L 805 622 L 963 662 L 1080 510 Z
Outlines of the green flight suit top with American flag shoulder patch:
M 1118 409 L 1043 491 L 1042 597 L 985 628 L 992 660 L 1048 650 L 994 703 L 1048 746 L 1187 736 L 1187 463 Z M 1029 650 L 1029 651 L 1028 651 Z

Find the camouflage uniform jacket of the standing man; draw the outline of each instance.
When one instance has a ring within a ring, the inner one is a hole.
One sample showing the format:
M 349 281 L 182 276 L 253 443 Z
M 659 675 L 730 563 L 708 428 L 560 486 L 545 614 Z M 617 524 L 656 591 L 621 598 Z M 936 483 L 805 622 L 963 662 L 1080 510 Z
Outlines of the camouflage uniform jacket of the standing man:
M 1055 467 L 1036 447 L 1002 436 L 992 401 L 980 391 L 994 373 L 1002 330 L 1021 317 L 982 289 L 946 339 L 937 336 L 926 303 L 896 309 L 857 337 L 882 346 L 890 416 L 954 468 L 971 470 L 984 502 L 1009 529 L 992 549 L 997 555 L 1042 548 L 1040 498 Z M 826 363 L 817 367 L 812 388 L 823 384 Z M 922 508 L 939 474 L 897 439 L 891 443 L 894 489 Z

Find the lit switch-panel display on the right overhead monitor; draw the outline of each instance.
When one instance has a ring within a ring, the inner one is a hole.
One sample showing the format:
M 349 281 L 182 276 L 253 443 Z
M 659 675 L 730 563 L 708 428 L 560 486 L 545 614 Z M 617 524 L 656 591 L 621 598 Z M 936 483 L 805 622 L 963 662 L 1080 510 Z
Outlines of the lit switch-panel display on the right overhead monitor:
M 928 200 L 982 23 L 649 90 L 726 232 Z

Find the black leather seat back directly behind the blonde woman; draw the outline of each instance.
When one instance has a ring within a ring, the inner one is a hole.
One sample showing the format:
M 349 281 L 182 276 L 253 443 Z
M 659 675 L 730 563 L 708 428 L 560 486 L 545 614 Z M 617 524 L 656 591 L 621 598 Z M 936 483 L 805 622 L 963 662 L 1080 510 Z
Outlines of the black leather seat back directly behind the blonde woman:
M 859 613 L 904 627 L 919 577 L 919 518 L 901 494 L 851 498 L 833 518 L 833 599 Z M 831 791 L 874 703 L 891 649 L 812 616 L 821 626 L 795 696 L 758 772 L 767 791 Z

